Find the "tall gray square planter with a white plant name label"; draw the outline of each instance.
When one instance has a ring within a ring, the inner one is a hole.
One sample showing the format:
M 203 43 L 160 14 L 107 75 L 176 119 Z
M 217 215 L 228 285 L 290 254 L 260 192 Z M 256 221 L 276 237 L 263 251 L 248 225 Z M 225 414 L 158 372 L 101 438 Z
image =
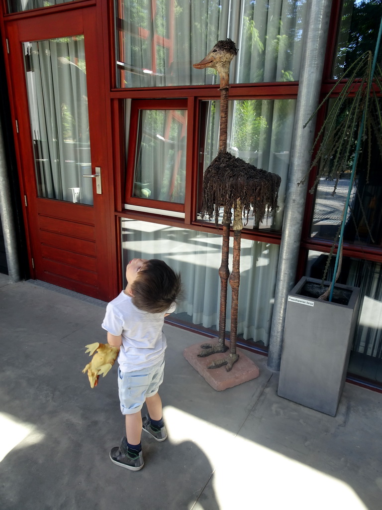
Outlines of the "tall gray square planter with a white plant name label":
M 278 395 L 335 416 L 343 390 L 360 289 L 336 284 L 333 301 L 321 280 L 304 276 L 288 295 Z M 329 285 L 329 282 L 326 282 Z

